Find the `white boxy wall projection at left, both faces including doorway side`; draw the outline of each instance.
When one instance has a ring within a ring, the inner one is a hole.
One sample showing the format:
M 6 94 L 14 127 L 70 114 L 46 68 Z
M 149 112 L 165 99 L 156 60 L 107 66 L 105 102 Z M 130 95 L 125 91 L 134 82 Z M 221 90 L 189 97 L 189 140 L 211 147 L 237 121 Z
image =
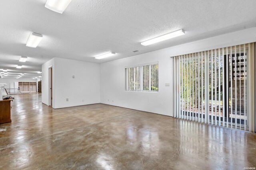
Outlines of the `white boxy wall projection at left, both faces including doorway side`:
M 53 108 L 100 103 L 100 64 L 54 58 L 42 65 L 44 104 L 49 105 L 48 67 L 50 65 L 53 65 Z

